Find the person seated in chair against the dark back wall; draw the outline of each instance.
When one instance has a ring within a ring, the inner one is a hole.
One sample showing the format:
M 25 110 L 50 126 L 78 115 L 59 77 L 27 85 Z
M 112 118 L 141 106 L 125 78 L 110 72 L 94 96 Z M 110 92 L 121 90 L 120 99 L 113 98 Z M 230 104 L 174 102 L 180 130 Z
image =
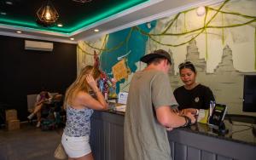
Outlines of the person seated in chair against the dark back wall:
M 41 124 L 41 110 L 44 106 L 44 102 L 49 101 L 52 99 L 51 94 L 49 94 L 49 92 L 47 91 L 42 91 L 40 92 L 40 94 L 38 94 L 37 96 L 37 101 L 35 103 L 35 108 L 32 111 L 32 113 L 27 117 L 28 119 L 32 119 L 32 117 L 34 117 L 35 115 L 37 115 L 38 118 L 38 123 L 37 123 L 37 127 L 40 127 Z

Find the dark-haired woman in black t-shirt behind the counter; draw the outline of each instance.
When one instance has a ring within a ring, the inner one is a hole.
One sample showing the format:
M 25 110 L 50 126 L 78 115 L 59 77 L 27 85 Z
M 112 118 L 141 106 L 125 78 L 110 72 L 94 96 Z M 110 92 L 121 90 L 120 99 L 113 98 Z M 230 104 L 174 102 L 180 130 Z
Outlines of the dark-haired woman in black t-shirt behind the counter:
M 180 78 L 184 85 L 174 90 L 178 110 L 198 114 L 200 109 L 209 109 L 210 102 L 215 101 L 212 90 L 195 82 L 195 66 L 186 61 L 178 66 Z

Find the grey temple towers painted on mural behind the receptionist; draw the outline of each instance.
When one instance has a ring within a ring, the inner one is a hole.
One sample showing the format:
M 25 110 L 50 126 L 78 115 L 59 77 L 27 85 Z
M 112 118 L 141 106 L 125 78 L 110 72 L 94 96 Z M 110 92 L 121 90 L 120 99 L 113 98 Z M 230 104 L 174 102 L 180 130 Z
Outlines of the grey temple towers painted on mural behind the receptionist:
M 196 41 L 191 41 L 187 46 L 186 61 L 191 61 L 195 65 L 197 82 L 203 82 L 202 84 L 212 89 L 218 103 L 232 106 L 231 110 L 241 111 L 243 73 L 234 67 L 230 47 L 224 47 L 221 62 L 213 73 L 207 73 L 207 61 L 204 58 L 200 59 L 199 54 Z M 183 85 L 179 75 L 174 74 L 173 67 L 170 79 L 172 89 Z

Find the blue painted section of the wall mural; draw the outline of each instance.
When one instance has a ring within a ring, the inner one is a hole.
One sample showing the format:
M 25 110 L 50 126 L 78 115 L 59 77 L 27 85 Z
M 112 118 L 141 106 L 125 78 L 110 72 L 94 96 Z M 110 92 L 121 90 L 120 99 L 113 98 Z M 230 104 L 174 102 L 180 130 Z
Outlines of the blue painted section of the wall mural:
M 156 26 L 156 20 L 150 22 L 151 28 L 148 28 L 147 24 L 140 25 L 138 27 L 142 28 L 143 31 L 151 31 Z M 116 31 L 109 34 L 108 42 L 106 44 L 107 49 L 113 49 L 120 42 L 125 42 L 125 38 L 129 35 L 131 28 L 127 28 L 122 31 Z M 119 60 L 118 57 L 121 57 L 125 54 L 126 64 L 130 67 L 131 72 L 137 71 L 137 66 L 135 65 L 137 61 L 145 54 L 146 43 L 148 37 L 142 35 L 138 31 L 134 30 L 131 32 L 131 37 L 129 41 L 124 43 L 119 49 L 114 50 L 113 52 L 103 52 L 101 55 L 101 66 L 102 70 L 108 74 L 108 77 L 113 77 L 112 66 L 114 66 Z M 119 83 L 124 83 L 125 79 L 121 80 Z M 119 83 L 117 83 L 117 93 L 119 93 Z

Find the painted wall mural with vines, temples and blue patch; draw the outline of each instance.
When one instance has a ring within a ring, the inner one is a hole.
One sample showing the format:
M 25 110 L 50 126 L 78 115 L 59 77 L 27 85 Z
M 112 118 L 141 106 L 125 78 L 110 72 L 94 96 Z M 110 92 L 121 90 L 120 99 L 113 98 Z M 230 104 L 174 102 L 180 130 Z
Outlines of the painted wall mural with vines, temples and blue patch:
M 144 68 L 143 54 L 166 49 L 172 55 L 172 88 L 183 85 L 178 64 L 190 60 L 198 71 L 197 81 L 209 86 L 218 103 L 234 114 L 241 110 L 243 75 L 256 74 L 256 1 L 227 0 L 207 6 L 202 16 L 196 9 L 154 20 L 140 26 L 78 45 L 78 68 L 93 63 L 93 53 L 101 57 L 101 67 L 112 77 L 112 66 L 125 58 L 128 78 L 117 83 L 117 91 L 128 91 L 133 72 Z

